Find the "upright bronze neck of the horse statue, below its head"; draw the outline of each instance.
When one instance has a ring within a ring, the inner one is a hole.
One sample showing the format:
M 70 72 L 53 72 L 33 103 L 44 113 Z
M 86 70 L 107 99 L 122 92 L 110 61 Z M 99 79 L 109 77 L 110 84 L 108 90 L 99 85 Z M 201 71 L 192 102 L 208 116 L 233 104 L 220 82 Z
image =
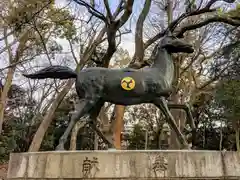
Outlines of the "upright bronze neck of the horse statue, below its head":
M 171 54 L 169 54 L 165 49 L 158 49 L 154 56 L 152 68 L 155 68 L 169 85 L 172 84 L 174 76 L 174 64 Z

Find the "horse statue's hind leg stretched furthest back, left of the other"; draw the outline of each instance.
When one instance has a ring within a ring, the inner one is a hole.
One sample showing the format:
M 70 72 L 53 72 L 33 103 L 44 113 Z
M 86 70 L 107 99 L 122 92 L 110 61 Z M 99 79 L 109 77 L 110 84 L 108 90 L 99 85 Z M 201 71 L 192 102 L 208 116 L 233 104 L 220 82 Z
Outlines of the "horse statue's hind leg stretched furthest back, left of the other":
M 75 114 L 72 115 L 70 123 L 65 130 L 64 134 L 59 139 L 59 144 L 56 147 L 56 150 L 64 150 L 64 144 L 67 141 L 69 134 L 71 133 L 72 128 L 74 127 L 76 121 L 78 121 L 81 117 L 87 114 L 94 106 L 96 102 L 92 100 L 81 99 L 79 103 L 79 109 Z

